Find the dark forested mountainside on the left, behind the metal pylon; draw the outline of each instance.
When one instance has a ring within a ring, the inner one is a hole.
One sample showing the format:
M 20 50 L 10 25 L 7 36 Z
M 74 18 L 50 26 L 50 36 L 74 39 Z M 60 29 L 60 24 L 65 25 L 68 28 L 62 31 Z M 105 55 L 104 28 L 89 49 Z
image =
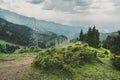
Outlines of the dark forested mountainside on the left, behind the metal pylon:
M 35 31 L 27 26 L 13 24 L 11 22 L 8 22 L 0 18 L 0 39 L 1 40 L 23 45 L 23 46 L 28 46 L 29 44 L 31 44 L 30 38 L 33 32 Z M 61 35 L 61 37 L 63 39 L 67 39 L 67 37 L 65 36 Z M 55 41 L 56 39 L 59 39 L 59 36 L 53 32 L 47 31 L 45 33 L 38 33 L 39 46 L 41 48 L 53 46 L 54 44 L 50 44 L 50 43 L 55 43 L 52 41 Z M 48 42 L 49 44 L 47 44 Z

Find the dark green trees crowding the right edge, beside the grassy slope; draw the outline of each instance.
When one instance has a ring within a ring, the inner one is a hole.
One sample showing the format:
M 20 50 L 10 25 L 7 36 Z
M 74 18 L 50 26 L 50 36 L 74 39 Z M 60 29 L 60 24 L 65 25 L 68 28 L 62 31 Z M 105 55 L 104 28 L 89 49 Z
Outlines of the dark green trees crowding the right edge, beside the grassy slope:
M 111 58 L 112 65 L 120 70 L 120 31 L 118 31 L 118 35 L 108 36 L 104 41 L 103 47 L 114 54 Z

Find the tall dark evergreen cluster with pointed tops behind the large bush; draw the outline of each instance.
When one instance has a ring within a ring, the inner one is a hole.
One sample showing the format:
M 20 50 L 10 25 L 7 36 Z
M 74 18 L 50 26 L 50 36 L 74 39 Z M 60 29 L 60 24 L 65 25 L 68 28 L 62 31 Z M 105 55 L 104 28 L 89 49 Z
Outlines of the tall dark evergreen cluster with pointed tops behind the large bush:
M 87 42 L 92 47 L 99 47 L 99 31 L 94 26 L 93 28 L 89 27 L 89 30 L 86 34 L 83 34 L 83 30 L 81 29 L 80 35 L 79 35 L 79 41 Z

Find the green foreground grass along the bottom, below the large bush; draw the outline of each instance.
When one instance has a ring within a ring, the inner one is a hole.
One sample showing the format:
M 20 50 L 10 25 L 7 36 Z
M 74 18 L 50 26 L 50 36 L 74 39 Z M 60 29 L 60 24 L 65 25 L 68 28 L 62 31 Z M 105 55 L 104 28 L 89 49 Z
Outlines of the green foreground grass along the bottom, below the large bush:
M 120 80 L 120 71 L 117 71 L 113 66 L 100 62 L 87 63 L 82 67 L 75 68 L 72 79 L 51 73 L 46 74 L 35 69 L 23 72 L 21 75 L 20 80 Z

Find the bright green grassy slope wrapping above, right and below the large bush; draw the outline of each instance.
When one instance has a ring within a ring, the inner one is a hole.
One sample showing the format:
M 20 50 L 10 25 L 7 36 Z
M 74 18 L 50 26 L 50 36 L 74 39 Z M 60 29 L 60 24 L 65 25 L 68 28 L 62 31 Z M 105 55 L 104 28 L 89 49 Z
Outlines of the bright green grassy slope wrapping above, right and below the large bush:
M 46 73 L 38 69 L 31 69 L 29 72 L 21 73 L 23 75 L 21 80 L 120 80 L 120 71 L 112 66 L 110 61 L 111 53 L 109 51 L 108 55 L 106 55 L 104 54 L 106 49 L 95 49 L 81 42 L 68 43 L 64 47 L 68 48 L 69 46 L 74 48 L 81 46 L 89 50 L 94 50 L 97 52 L 98 60 L 93 59 L 90 63 L 85 62 L 84 65 L 73 67 L 73 76 L 69 76 L 71 78 L 66 78 L 64 75 L 57 75 L 56 72 L 49 71 Z M 52 69 L 52 71 L 54 71 L 54 69 Z

